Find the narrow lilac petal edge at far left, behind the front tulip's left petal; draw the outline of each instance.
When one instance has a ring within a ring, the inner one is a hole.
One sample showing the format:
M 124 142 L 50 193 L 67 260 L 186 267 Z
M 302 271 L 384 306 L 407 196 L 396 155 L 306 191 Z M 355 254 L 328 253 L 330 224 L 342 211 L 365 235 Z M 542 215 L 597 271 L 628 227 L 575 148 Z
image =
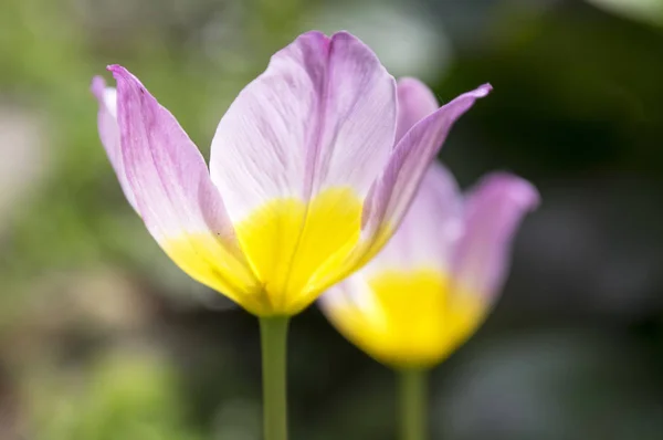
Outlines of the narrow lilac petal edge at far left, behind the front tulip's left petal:
M 117 175 L 117 180 L 119 181 L 119 186 L 122 187 L 125 197 L 131 207 L 138 211 L 134 191 L 131 191 L 129 182 L 127 181 L 127 175 L 125 172 L 124 161 L 122 159 L 122 150 L 119 148 L 119 128 L 117 127 L 117 92 L 114 87 L 107 87 L 106 82 L 101 76 L 95 76 L 92 80 L 91 90 L 99 103 L 97 125 L 102 145 L 106 149 L 106 155 L 108 156 L 108 160 L 110 161 L 110 165 Z

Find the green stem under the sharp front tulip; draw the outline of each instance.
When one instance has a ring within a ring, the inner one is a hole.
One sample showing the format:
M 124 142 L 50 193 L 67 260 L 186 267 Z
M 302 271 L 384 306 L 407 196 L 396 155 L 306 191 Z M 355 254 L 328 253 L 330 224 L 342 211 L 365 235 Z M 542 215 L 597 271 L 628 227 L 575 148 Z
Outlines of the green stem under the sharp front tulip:
M 264 440 L 287 440 L 286 355 L 290 316 L 260 318 Z

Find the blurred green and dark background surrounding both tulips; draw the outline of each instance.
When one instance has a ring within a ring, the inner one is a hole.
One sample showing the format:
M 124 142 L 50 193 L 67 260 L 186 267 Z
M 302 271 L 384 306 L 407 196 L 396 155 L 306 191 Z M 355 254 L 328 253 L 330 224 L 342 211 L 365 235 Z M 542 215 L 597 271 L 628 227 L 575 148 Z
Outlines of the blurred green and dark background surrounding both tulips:
M 491 82 L 441 159 L 464 187 L 508 169 L 543 195 L 494 314 L 435 370 L 434 438 L 661 439 L 661 0 L 1 1 L 0 439 L 260 439 L 256 322 L 145 231 L 88 85 L 127 66 L 207 155 L 309 29 L 441 102 Z M 392 439 L 390 371 L 315 307 L 291 336 L 292 438 Z

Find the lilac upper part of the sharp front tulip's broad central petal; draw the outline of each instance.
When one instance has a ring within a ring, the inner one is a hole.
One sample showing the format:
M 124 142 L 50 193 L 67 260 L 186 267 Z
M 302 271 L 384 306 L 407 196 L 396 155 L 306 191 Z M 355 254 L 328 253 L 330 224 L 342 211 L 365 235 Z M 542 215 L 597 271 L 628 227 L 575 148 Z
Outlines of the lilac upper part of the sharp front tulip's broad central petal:
M 277 52 L 221 119 L 210 169 L 233 221 L 274 198 L 349 186 L 359 198 L 396 132 L 396 83 L 348 33 L 308 32 Z

